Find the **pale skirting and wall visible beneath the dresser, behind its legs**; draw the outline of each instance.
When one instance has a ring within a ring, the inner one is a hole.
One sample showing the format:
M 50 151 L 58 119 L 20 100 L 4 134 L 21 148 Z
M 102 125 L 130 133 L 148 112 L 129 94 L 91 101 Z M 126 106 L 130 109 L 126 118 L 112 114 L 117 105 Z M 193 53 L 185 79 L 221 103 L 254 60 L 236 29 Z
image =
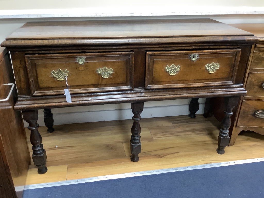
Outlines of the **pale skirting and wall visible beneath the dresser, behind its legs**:
M 163 103 L 162 103 L 163 102 Z M 177 105 L 171 105 L 173 102 Z M 162 116 L 177 116 L 177 115 L 188 115 L 189 112 L 189 99 L 186 100 L 171 100 L 166 101 L 155 101 L 144 103 L 144 110 L 140 114 L 142 118 L 148 117 L 162 117 Z M 205 98 L 199 99 L 200 107 L 197 114 L 203 114 L 205 106 Z M 160 106 L 157 106 L 159 104 Z M 164 106 L 163 106 L 164 105 Z M 69 108 L 58 108 L 52 109 L 54 117 L 54 125 L 60 124 L 73 124 L 82 122 L 99 122 L 99 121 L 110 121 L 110 120 L 128 120 L 133 116 L 130 103 L 122 104 L 122 109 L 116 109 L 118 106 L 115 105 L 97 105 L 97 106 L 85 106 L 85 107 L 71 107 Z M 87 107 L 87 109 L 86 109 Z M 90 107 L 90 108 L 89 108 Z M 113 107 L 113 108 L 111 108 Z M 78 111 L 82 108 L 81 111 Z M 77 110 L 77 111 L 76 111 Z M 43 110 L 39 110 L 38 124 L 44 126 Z M 24 125 L 28 124 L 24 121 Z

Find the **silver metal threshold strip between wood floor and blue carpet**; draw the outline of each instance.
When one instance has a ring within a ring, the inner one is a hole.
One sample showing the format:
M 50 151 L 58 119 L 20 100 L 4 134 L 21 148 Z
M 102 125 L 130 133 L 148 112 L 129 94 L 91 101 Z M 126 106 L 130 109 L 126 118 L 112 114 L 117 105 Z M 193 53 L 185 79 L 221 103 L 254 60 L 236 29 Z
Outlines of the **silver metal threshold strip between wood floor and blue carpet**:
M 26 185 L 24 187 L 24 190 L 30 190 L 30 189 L 35 189 L 35 188 L 45 188 L 45 187 L 52 187 L 52 186 L 63 186 L 63 185 L 70 185 L 70 184 L 76 184 L 76 183 L 86 183 L 86 182 L 93 182 L 93 181 L 112 180 L 112 179 L 118 179 L 118 178 L 135 177 L 135 176 L 143 176 L 143 175 L 154 175 L 154 174 L 160 174 L 160 173 L 187 171 L 187 170 L 202 169 L 202 168 L 212 168 L 212 167 L 219 167 L 219 166 L 230 166 L 230 165 L 246 164 L 246 163 L 253 163 L 253 162 L 263 162 L 263 161 L 264 161 L 264 157 L 263 158 L 255 158 L 255 159 L 230 161 L 230 162 L 220 162 L 220 163 L 213 163 L 213 164 L 186 166 L 186 167 L 179 167 L 179 168 L 159 169 L 159 170 L 154 170 L 154 171 L 122 173 L 122 174 L 116 174 L 116 175 L 91 177 L 91 178 L 85 178 L 85 179 L 79 179 L 79 180 L 68 180 L 68 181 L 61 181 L 61 182 L 58 181 L 58 182 Z

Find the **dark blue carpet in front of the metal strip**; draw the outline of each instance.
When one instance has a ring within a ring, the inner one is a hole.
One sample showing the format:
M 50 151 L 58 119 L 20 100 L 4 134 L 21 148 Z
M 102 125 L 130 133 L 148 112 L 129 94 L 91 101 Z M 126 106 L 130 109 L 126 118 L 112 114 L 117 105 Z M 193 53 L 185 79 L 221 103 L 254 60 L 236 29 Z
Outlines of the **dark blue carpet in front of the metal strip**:
M 25 190 L 23 198 L 263 198 L 263 170 L 264 162 L 194 169 Z

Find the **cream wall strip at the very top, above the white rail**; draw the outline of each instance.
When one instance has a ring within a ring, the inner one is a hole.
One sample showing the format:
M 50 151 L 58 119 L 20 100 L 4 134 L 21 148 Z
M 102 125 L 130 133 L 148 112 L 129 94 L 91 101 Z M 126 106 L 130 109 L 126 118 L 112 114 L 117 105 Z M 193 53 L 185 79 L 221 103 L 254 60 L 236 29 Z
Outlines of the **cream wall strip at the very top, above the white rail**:
M 189 8 L 204 6 L 223 7 L 262 7 L 261 0 L 1 0 L 1 10 L 29 10 L 29 9 L 56 9 L 56 8 L 96 8 L 96 7 L 177 7 L 187 6 Z

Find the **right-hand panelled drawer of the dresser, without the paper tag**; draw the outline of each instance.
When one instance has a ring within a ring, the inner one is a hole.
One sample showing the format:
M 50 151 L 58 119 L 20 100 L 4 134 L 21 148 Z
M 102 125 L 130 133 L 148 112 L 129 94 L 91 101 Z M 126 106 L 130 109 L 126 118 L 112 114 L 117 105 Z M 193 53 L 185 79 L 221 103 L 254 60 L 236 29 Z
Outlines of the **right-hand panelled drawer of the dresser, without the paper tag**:
M 240 49 L 148 51 L 145 88 L 233 84 L 240 52 Z

